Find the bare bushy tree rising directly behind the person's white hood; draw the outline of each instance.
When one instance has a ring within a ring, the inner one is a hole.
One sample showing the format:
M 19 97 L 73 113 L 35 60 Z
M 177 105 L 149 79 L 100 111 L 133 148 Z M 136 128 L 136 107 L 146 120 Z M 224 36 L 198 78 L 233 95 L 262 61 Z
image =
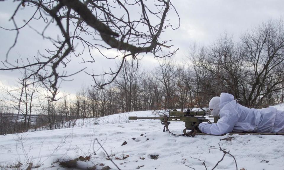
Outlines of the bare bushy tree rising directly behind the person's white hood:
M 208 98 L 228 92 L 239 97 L 239 79 L 242 79 L 243 60 L 232 37 L 221 36 L 210 49 L 202 47 L 191 55 L 199 92 Z M 222 87 L 222 88 L 220 88 Z

